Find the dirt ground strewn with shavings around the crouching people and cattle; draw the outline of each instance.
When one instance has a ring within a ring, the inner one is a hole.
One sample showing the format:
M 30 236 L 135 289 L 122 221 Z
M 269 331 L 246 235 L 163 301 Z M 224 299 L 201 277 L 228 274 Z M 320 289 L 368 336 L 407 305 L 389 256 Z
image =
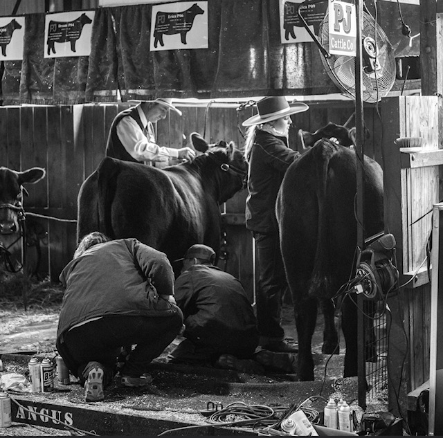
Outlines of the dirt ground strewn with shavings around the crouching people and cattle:
M 18 305 L 15 308 L 0 310 L 0 358 L 3 358 L 3 372 L 26 374 L 28 353 L 44 357 L 55 354 L 55 335 L 57 332 L 60 303 L 48 308 L 31 305 L 24 311 Z M 166 354 L 179 343 L 179 339 L 152 363 L 151 374 L 154 381 L 145 390 L 125 388 L 118 381 L 105 391 L 105 401 L 93 403 L 94 410 L 122 412 L 154 419 L 179 421 L 199 424 L 205 419 L 200 414 L 208 401 L 222 403 L 224 406 L 236 401 L 246 404 L 271 405 L 280 410 L 287 410 L 294 403 L 301 403 L 311 396 L 333 396 L 345 399 L 356 410 L 357 418 L 363 411 L 357 399 L 356 378 L 342 378 L 345 347 L 341 342 L 341 354 L 327 356 L 321 354 L 323 327 L 318 321 L 318 329 L 313 340 L 314 361 L 316 363 L 314 382 L 296 382 L 294 374 L 266 373 L 254 375 L 227 369 L 189 367 L 172 365 L 165 361 Z M 285 306 L 283 325 L 289 338 L 296 340 L 293 311 Z M 24 361 L 15 361 L 10 355 L 23 354 Z M 26 395 L 35 401 L 44 401 L 50 397 L 51 403 L 61 403 L 87 407 L 83 401 L 83 389 L 72 381 L 66 392 Z M 66 388 L 66 387 L 65 387 Z M 324 399 L 316 399 L 308 405 L 318 412 L 323 411 Z M 89 407 L 89 406 L 88 406 Z M 386 410 L 386 396 L 371 401 L 367 411 Z M 0 435 L 6 436 L 57 436 L 71 435 L 69 430 L 43 428 L 41 426 L 13 423 L 11 428 L 3 428 Z M 197 432 L 196 432 L 197 433 Z

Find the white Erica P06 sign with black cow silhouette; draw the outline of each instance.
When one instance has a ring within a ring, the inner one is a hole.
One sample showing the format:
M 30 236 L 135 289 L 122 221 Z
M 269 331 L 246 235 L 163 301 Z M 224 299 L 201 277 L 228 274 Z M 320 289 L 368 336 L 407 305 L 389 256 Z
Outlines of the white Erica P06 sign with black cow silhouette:
M 208 48 L 208 2 L 152 6 L 150 51 Z

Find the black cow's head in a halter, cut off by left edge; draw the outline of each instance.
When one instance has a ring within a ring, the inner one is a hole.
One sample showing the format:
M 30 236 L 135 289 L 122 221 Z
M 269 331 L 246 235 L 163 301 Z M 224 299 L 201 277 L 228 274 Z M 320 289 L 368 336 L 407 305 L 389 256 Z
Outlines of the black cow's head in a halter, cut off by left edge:
M 19 216 L 24 214 L 21 206 L 22 184 L 37 183 L 44 176 L 45 171 L 40 167 L 23 172 L 0 167 L 0 234 L 10 235 L 19 230 Z

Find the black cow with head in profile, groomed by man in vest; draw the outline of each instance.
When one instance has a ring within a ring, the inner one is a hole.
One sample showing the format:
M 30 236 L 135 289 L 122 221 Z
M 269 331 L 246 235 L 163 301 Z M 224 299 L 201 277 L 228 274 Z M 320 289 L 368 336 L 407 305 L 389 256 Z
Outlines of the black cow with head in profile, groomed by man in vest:
M 209 147 L 196 133 L 191 140 L 195 149 L 208 149 L 192 163 L 157 169 L 105 158 L 80 188 L 78 239 L 92 231 L 136 237 L 172 261 L 192 244 L 218 255 L 219 203 L 244 187 L 247 165 L 233 143 Z

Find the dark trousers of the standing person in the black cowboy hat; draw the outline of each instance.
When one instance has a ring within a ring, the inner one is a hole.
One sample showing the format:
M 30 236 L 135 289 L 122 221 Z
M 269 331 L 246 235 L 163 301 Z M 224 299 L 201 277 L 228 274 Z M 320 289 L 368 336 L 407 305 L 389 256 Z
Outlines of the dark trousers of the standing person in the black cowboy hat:
M 253 232 L 257 253 L 257 327 L 260 345 L 284 339 L 281 325 L 282 294 L 287 288 L 278 232 Z

